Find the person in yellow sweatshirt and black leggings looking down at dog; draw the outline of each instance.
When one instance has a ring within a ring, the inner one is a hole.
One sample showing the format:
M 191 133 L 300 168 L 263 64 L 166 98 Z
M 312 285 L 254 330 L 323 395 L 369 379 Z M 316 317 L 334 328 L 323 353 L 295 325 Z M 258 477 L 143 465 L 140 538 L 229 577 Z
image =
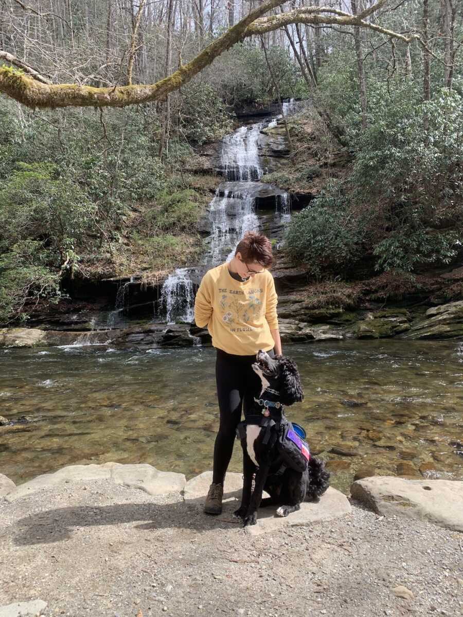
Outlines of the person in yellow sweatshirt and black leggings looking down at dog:
M 278 331 L 277 293 L 273 276 L 270 240 L 248 231 L 236 247 L 235 257 L 208 270 L 194 302 L 194 320 L 209 330 L 217 349 L 215 379 L 219 397 L 220 425 L 215 438 L 214 472 L 204 511 L 222 512 L 223 479 L 230 463 L 236 426 L 253 400 L 249 384 L 251 364 L 259 349 L 269 355 L 282 353 Z

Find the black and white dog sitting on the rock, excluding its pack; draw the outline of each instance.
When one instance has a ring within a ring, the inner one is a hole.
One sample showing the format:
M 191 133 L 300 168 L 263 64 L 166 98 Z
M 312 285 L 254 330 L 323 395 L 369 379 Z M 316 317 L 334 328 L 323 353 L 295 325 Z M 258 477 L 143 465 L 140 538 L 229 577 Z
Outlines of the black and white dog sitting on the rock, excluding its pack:
M 259 506 L 279 505 L 278 516 L 288 516 L 299 510 L 305 499 L 318 501 L 329 486 L 330 474 L 325 463 L 310 457 L 306 471 L 295 471 L 281 465 L 277 448 L 277 435 L 286 422 L 284 405 L 292 405 L 304 398 L 298 367 L 282 355 L 270 358 L 260 350 L 252 365 L 256 373 L 254 409 L 246 417 L 268 416 L 273 422 L 269 429 L 259 424 L 245 424 L 241 429 L 243 447 L 243 495 L 235 516 L 243 520 L 244 526 L 257 523 Z M 269 434 L 273 431 L 273 434 Z M 254 491 L 252 490 L 252 479 Z M 262 491 L 269 499 L 262 500 Z

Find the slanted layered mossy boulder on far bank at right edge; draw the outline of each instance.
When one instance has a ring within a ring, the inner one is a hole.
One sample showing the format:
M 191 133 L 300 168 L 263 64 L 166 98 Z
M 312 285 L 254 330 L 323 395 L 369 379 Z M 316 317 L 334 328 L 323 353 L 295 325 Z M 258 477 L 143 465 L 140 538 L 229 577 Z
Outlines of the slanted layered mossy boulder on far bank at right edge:
M 463 300 L 428 309 L 425 319 L 414 323 L 407 339 L 451 339 L 463 336 Z

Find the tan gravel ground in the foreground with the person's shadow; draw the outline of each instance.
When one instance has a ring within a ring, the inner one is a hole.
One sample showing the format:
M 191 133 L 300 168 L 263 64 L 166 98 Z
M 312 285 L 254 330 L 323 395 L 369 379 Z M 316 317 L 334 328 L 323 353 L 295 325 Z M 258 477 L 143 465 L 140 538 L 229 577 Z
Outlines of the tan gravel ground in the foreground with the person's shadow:
M 0 520 L 0 605 L 41 598 L 47 616 L 463 614 L 462 534 L 358 506 L 252 536 L 178 494 L 94 481 L 0 500 Z

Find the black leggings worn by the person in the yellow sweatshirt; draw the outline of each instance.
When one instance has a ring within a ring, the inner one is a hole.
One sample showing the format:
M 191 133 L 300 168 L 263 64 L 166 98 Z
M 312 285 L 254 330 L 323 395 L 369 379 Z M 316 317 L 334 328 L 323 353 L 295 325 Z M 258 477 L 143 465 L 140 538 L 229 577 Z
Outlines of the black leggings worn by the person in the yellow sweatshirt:
M 267 353 L 272 358 L 275 355 L 273 349 Z M 254 402 L 254 395 L 250 392 L 251 384 L 255 384 L 256 379 L 256 374 L 251 368 L 254 362 L 256 362 L 255 354 L 233 355 L 217 349 L 215 380 L 219 397 L 220 425 L 214 445 L 212 482 L 215 484 L 222 484 L 225 478 L 225 472 L 233 453 L 236 426 L 241 420 L 243 404 L 246 414 Z

